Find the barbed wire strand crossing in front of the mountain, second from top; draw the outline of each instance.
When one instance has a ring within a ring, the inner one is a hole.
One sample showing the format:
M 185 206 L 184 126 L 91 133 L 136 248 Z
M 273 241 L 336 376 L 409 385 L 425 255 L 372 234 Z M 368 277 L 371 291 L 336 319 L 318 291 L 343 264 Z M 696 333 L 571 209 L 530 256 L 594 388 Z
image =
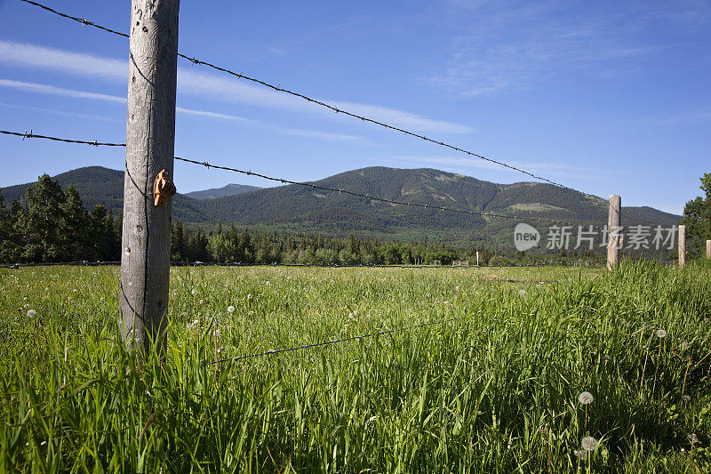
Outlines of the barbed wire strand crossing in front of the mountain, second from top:
M 18 137 L 22 137 L 22 140 L 24 141 L 25 139 L 30 139 L 30 138 L 38 138 L 38 139 L 45 139 L 45 140 L 52 140 L 52 141 L 62 141 L 66 143 L 79 143 L 79 144 L 85 144 L 85 145 L 92 145 L 92 146 L 108 146 L 108 147 L 125 147 L 125 143 L 104 143 L 104 142 L 99 142 L 99 141 L 83 141 L 83 140 L 74 140 L 74 139 L 65 139 L 65 138 L 60 138 L 60 137 L 51 137 L 51 136 L 46 136 L 46 135 L 38 135 L 36 133 L 31 133 L 31 131 L 20 133 L 20 132 L 8 132 L 6 130 L 0 130 L 0 133 L 4 133 L 6 135 L 14 135 Z M 263 173 L 256 173 L 252 172 L 252 170 L 241 170 L 239 168 L 233 168 L 230 166 L 223 166 L 223 165 L 212 165 L 211 163 L 207 161 L 198 161 L 198 160 L 193 160 L 189 158 L 182 158 L 182 157 L 174 157 L 174 159 L 190 163 L 193 165 L 202 165 L 208 169 L 210 168 L 215 168 L 218 170 L 224 170 L 224 171 L 230 171 L 233 173 L 241 173 L 245 174 L 247 176 L 256 176 L 258 178 L 262 178 L 264 180 L 268 181 L 275 181 L 275 182 L 281 182 L 282 184 L 292 184 L 292 185 L 297 185 L 301 187 L 306 187 L 310 189 L 319 189 L 323 191 L 330 191 L 330 192 L 337 192 L 339 194 L 347 194 L 349 196 L 354 196 L 354 197 L 363 197 L 365 199 L 369 199 L 371 201 L 378 201 L 382 203 L 387 203 L 390 205 L 405 205 L 409 207 L 419 207 L 419 208 L 424 208 L 424 209 L 432 209 L 435 211 L 443 211 L 443 212 L 449 212 L 449 213 L 462 213 L 462 214 L 469 214 L 469 215 L 478 215 L 481 217 L 490 217 L 490 218 L 495 218 L 495 219 L 513 219 L 516 221 L 534 221 L 534 222 L 549 222 L 549 223 L 555 223 L 555 224 L 562 224 L 562 225 L 575 225 L 574 222 L 571 221 L 556 221 L 554 219 L 545 219 L 541 217 L 524 217 L 524 216 L 516 216 L 516 215 L 509 215 L 509 214 L 501 214 L 501 213 L 480 213 L 476 211 L 467 211 L 465 209 L 457 209 L 453 207 L 448 207 L 448 206 L 442 206 L 442 205 L 427 205 L 427 204 L 421 204 L 421 203 L 410 203 L 406 201 L 396 201 L 394 199 L 387 199 L 385 197 L 377 197 L 377 196 L 371 196 L 369 194 L 365 193 L 359 193 L 356 191 L 349 191 L 348 189 L 336 189 L 336 188 L 330 188 L 327 186 L 321 186 L 318 184 L 314 183 L 309 183 L 309 182 L 300 182 L 300 181 L 292 181 L 292 180 L 285 180 L 283 178 L 275 178 L 273 176 L 268 176 Z M 589 222 L 586 220 L 580 220 L 581 222 Z

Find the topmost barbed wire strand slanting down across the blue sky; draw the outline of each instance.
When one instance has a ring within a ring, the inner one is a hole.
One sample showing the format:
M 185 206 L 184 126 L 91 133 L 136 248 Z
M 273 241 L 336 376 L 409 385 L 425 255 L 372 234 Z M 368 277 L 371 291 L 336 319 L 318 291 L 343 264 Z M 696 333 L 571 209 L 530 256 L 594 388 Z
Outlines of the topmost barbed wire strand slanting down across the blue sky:
M 45 10 L 45 11 L 47 11 L 47 12 L 52 12 L 52 13 L 54 13 L 54 14 L 56 14 L 56 15 L 59 15 L 59 16 L 62 17 L 62 18 L 67 18 L 68 20 L 74 20 L 74 21 L 76 21 L 76 22 L 78 22 L 78 23 L 81 23 L 81 24 L 84 25 L 84 26 L 87 26 L 87 25 L 88 25 L 88 26 L 92 26 L 92 27 L 94 27 L 94 28 L 99 28 L 99 29 L 101 29 L 101 30 L 103 30 L 103 31 L 107 31 L 108 33 L 113 33 L 113 34 L 118 35 L 118 36 L 129 37 L 129 36 L 126 35 L 125 33 L 120 33 L 120 32 L 115 31 L 115 30 L 113 30 L 113 29 L 103 27 L 103 26 L 101 26 L 101 25 L 99 25 L 99 24 L 97 24 L 97 23 L 94 23 L 93 21 L 84 20 L 84 18 L 71 16 L 71 15 L 68 15 L 67 13 L 58 12 L 58 11 L 56 11 L 56 10 L 54 10 L 54 9 L 52 9 L 52 8 L 50 8 L 50 7 L 48 7 L 48 6 L 45 6 L 44 4 L 39 4 L 39 3 L 33 2 L 33 1 L 31 1 L 31 0 L 20 0 L 20 1 L 21 1 L 21 2 L 24 2 L 24 3 L 26 3 L 26 4 L 35 5 L 35 6 L 39 7 L 39 8 L 42 8 L 43 10 Z M 276 92 L 284 92 L 284 93 L 286 93 L 286 94 L 292 95 L 293 97 L 298 97 L 298 98 L 300 98 L 300 99 L 302 99 L 302 100 L 306 100 L 306 101 L 308 101 L 308 102 L 310 102 L 310 103 L 313 103 L 313 104 L 316 104 L 316 105 L 318 105 L 318 106 L 321 106 L 321 107 L 324 107 L 324 108 L 328 108 L 328 109 L 330 109 L 330 110 L 332 110 L 333 112 L 336 112 L 336 113 L 338 113 L 338 114 L 343 114 L 343 115 L 345 115 L 345 116 L 350 116 L 350 117 L 356 118 L 356 119 L 358 119 L 358 120 L 360 120 L 360 121 L 362 121 L 362 122 L 368 122 L 368 123 L 371 123 L 372 125 L 379 125 L 379 126 L 381 126 L 381 127 L 387 128 L 387 129 L 392 130 L 392 131 L 395 131 L 395 132 L 404 133 L 405 135 L 410 135 L 411 137 L 414 137 L 414 138 L 417 138 L 417 139 L 420 139 L 420 140 L 423 140 L 423 141 L 429 141 L 430 143 L 435 143 L 435 145 L 439 145 L 439 146 L 444 147 L 444 148 L 448 148 L 448 149 L 453 149 L 453 150 L 455 150 L 455 151 L 459 151 L 460 153 L 464 153 L 464 154 L 466 154 L 466 155 L 468 155 L 468 156 L 470 156 L 470 157 L 476 157 L 476 158 L 482 159 L 482 160 L 484 160 L 484 161 L 488 161 L 488 162 L 490 162 L 490 163 L 493 163 L 493 164 L 495 164 L 495 165 L 503 166 L 503 167 L 508 168 L 508 169 L 510 169 L 510 170 L 513 170 L 513 171 L 516 171 L 516 172 L 519 172 L 519 173 L 526 174 L 526 175 L 528 175 L 528 176 L 531 176 L 531 178 L 534 178 L 534 179 L 539 180 L 539 181 L 545 181 L 545 182 L 547 182 L 547 183 L 549 183 L 549 184 L 552 184 L 552 185 L 554 185 L 554 186 L 557 186 L 557 187 L 559 187 L 559 188 L 570 189 L 570 190 L 575 191 L 575 192 L 580 192 L 580 191 L 578 191 L 577 189 L 572 189 L 572 188 L 570 188 L 570 187 L 568 187 L 568 186 L 565 186 L 565 185 L 563 185 L 563 184 L 561 184 L 561 183 L 559 183 L 559 182 L 551 181 L 551 180 L 548 180 L 547 178 L 544 178 L 544 177 L 542 177 L 542 176 L 538 176 L 538 175 L 536 175 L 536 174 L 527 172 L 527 171 L 525 171 L 525 170 L 523 170 L 522 168 L 519 168 L 519 167 L 517 167 L 517 166 L 508 165 L 507 163 L 504 163 L 503 161 L 496 160 L 496 159 L 493 159 L 493 158 L 483 157 L 482 155 L 479 155 L 478 153 L 474 153 L 473 151 L 469 151 L 469 150 L 467 150 L 467 149 L 462 149 L 462 148 L 460 148 L 460 147 L 457 147 L 457 146 L 455 146 L 455 145 L 451 145 L 451 144 L 446 143 L 446 142 L 444 142 L 444 141 L 438 141 L 438 140 L 435 140 L 435 139 L 432 139 L 432 138 L 428 138 L 428 137 L 426 137 L 425 135 L 422 135 L 422 134 L 420 134 L 420 133 L 411 132 L 411 131 L 409 131 L 409 130 L 405 130 L 405 129 L 403 129 L 403 128 L 400 128 L 400 127 L 397 127 L 397 126 L 394 126 L 394 125 L 388 125 L 388 124 L 385 123 L 385 122 L 381 122 L 381 121 L 379 121 L 379 120 L 377 120 L 377 119 L 374 119 L 374 118 L 371 118 L 371 117 L 368 117 L 368 116 L 358 115 L 358 114 L 356 114 L 355 112 L 350 112 L 350 111 L 345 110 L 345 109 L 343 109 L 343 108 L 336 107 L 336 106 L 334 106 L 334 105 L 332 105 L 332 104 L 329 104 L 329 103 L 324 102 L 323 100 L 314 99 L 314 98 L 309 97 L 308 95 L 302 94 L 302 93 L 300 93 L 300 92 L 293 92 L 293 91 L 291 91 L 291 90 L 289 90 L 289 89 L 285 89 L 284 87 L 281 86 L 281 84 L 277 84 L 277 85 L 269 84 L 269 83 L 266 82 L 266 81 L 262 81 L 262 80 L 260 80 L 260 79 L 256 79 L 256 78 L 251 77 L 251 76 L 245 76 L 245 75 L 244 75 L 243 73 L 241 73 L 241 72 L 236 72 L 236 71 L 230 70 L 230 69 L 228 69 L 228 68 L 222 68 L 222 67 L 220 67 L 220 66 L 217 66 L 217 65 L 215 65 L 215 64 L 212 64 L 211 62 L 208 62 L 208 61 L 205 61 L 205 60 L 199 60 L 199 59 L 197 59 L 197 58 L 194 57 L 194 56 L 190 56 L 190 55 L 185 54 L 185 53 L 182 53 L 182 52 L 179 52 L 178 55 L 179 55 L 181 58 L 185 59 L 185 60 L 189 60 L 189 61 L 192 62 L 193 64 L 203 65 L 203 66 L 206 66 L 206 67 L 208 67 L 208 68 L 212 68 L 212 69 L 215 69 L 215 70 L 217 70 L 217 71 L 224 72 L 224 73 L 226 73 L 226 74 L 228 74 L 228 75 L 230 75 L 230 76 L 235 76 L 237 79 L 244 79 L 244 80 L 250 81 L 250 82 L 252 82 L 252 83 L 254 83 L 254 84 L 263 85 L 264 87 L 268 87 L 269 89 L 272 89 L 273 91 L 276 91 Z M 583 193 L 583 194 L 585 194 L 585 193 Z

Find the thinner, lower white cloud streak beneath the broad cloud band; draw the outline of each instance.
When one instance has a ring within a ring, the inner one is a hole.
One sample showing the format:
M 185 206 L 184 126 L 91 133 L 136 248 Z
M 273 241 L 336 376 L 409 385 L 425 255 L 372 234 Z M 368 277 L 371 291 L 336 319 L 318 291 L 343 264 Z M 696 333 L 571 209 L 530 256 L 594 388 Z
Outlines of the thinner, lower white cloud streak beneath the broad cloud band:
M 43 93 L 48 95 L 55 95 L 60 97 L 70 97 L 73 99 L 88 99 L 88 100 L 102 100 L 105 102 L 114 103 L 125 103 L 126 99 L 124 97 L 119 97 L 117 95 L 108 95 L 95 92 L 84 92 L 75 91 L 72 89 L 65 89 L 64 87 L 57 87 L 49 84 L 37 84 L 28 83 L 23 81 L 13 81 L 10 79 L 0 79 L 0 87 L 7 87 L 11 89 L 16 89 L 24 92 L 35 92 Z M 37 111 L 52 112 L 50 109 L 36 108 Z M 260 127 L 265 127 L 270 130 L 274 130 L 277 133 L 283 133 L 285 135 L 294 135 L 308 138 L 316 138 L 320 140 L 328 141 L 363 141 L 362 137 L 357 137 L 355 135 L 345 135 L 341 133 L 326 133 L 316 130 L 306 130 L 306 129 L 295 129 L 295 128 L 282 128 L 277 125 L 268 124 L 260 120 L 251 120 L 249 118 L 244 118 L 242 116 L 232 116 L 228 114 L 220 114 L 219 112 L 212 112 L 209 110 L 196 110 L 193 108 L 176 107 L 175 111 L 179 114 L 187 114 L 190 116 L 199 116 L 206 118 L 216 118 L 219 120 L 231 120 L 235 122 L 240 122 L 245 125 L 257 125 Z M 75 115 L 76 116 L 76 115 Z

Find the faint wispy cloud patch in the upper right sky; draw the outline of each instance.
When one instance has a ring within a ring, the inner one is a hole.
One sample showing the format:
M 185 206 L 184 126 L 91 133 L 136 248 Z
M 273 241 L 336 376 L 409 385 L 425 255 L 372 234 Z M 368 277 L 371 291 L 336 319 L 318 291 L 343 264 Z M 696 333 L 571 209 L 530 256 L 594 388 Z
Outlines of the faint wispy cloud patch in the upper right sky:
M 583 3 L 565 0 L 446 0 L 443 16 L 475 28 L 454 36 L 439 72 L 422 77 L 451 95 L 473 97 L 530 89 L 554 76 L 639 74 L 645 60 L 673 49 L 674 39 L 708 25 L 704 2 Z M 433 19 L 442 21 L 442 18 Z M 649 37 L 667 33 L 664 46 Z M 672 39 L 669 39 L 672 38 Z

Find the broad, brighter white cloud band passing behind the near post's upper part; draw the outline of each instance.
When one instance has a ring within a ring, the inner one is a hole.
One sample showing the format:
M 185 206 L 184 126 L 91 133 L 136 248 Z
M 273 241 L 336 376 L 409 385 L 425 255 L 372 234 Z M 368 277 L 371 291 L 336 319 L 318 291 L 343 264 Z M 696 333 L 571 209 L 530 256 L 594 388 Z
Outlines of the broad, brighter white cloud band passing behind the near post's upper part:
M 26 68 L 42 68 L 61 71 L 76 76 L 97 77 L 112 83 L 127 81 L 127 60 L 116 60 L 82 52 L 68 52 L 36 44 L 23 44 L 0 40 L 0 62 Z M 208 97 L 220 102 L 248 104 L 258 107 L 281 108 L 301 113 L 332 115 L 324 108 L 309 104 L 291 95 L 238 80 L 197 72 L 194 68 L 178 69 L 178 92 Z M 324 100 L 328 101 L 328 100 Z M 378 105 L 336 101 L 340 108 L 352 109 L 357 114 L 368 115 L 386 122 L 410 128 L 418 133 L 474 133 L 475 129 L 443 120 L 419 116 L 411 112 Z

